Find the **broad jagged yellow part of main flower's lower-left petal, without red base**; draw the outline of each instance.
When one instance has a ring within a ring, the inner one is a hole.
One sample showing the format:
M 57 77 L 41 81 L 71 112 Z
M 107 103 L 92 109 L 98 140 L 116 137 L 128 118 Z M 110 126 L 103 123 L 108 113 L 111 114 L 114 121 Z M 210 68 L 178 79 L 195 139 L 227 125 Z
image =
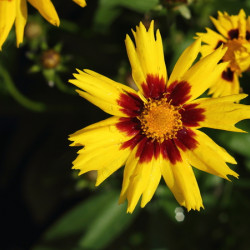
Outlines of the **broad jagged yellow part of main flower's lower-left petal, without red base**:
M 83 146 L 78 151 L 73 168 L 80 169 L 79 174 L 98 170 L 96 185 L 121 167 L 130 154 L 129 148 L 121 149 L 130 137 L 116 128 L 117 122 L 118 117 L 111 117 L 79 130 L 69 138 L 74 142 L 71 146 Z

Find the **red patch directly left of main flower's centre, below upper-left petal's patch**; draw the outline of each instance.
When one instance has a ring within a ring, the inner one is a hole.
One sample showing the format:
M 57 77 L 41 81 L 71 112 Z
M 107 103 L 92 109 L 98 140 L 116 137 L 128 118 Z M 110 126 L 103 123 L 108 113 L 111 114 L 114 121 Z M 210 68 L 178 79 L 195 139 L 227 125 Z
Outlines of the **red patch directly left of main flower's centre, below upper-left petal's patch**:
M 121 117 L 116 127 L 128 136 L 137 135 L 141 130 L 140 121 L 135 117 Z

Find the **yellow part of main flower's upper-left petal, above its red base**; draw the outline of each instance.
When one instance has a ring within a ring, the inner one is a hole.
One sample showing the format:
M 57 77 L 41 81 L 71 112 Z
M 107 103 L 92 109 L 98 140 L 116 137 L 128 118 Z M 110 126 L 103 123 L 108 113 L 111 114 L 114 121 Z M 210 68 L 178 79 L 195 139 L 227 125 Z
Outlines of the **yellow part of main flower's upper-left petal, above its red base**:
M 69 82 L 85 91 L 77 90 L 82 97 L 111 115 L 127 116 L 121 111 L 118 100 L 122 94 L 137 95 L 135 90 L 90 70 L 78 72 L 74 74 L 76 79 Z

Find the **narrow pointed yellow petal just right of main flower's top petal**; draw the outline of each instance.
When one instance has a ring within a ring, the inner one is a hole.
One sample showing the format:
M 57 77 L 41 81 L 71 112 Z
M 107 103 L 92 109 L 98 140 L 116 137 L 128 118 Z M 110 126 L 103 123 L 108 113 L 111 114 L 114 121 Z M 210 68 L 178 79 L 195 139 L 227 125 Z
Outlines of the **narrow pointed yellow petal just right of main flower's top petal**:
M 197 39 L 181 54 L 170 75 L 168 85 L 174 81 L 179 81 L 184 73 L 192 66 L 201 48 L 201 40 Z

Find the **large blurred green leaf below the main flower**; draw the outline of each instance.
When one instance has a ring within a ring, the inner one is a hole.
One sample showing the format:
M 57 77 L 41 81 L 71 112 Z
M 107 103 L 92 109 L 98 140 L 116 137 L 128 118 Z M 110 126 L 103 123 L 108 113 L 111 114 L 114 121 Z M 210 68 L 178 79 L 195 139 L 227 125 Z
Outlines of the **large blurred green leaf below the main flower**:
M 117 191 L 95 195 L 59 219 L 34 249 L 101 249 L 132 222 L 135 214 L 126 214 L 126 205 L 118 205 Z

